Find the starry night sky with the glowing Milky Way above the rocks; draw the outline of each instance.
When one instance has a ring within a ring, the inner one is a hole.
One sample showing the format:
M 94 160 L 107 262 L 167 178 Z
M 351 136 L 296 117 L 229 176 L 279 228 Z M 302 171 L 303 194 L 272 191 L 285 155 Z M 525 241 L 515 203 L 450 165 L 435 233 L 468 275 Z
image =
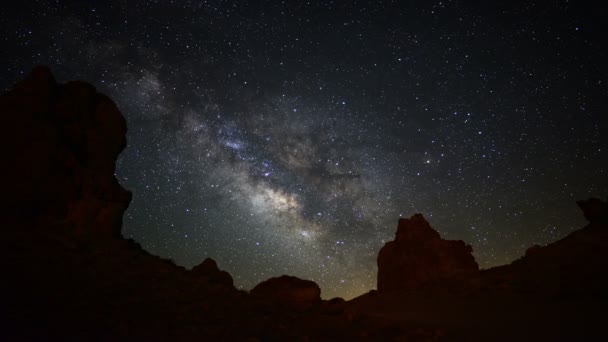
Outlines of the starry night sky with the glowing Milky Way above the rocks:
M 417 212 L 496 266 L 608 195 L 608 24 L 584 2 L 20 1 L 0 20 L 2 89 L 46 64 L 126 117 L 123 235 L 237 287 L 362 294 Z

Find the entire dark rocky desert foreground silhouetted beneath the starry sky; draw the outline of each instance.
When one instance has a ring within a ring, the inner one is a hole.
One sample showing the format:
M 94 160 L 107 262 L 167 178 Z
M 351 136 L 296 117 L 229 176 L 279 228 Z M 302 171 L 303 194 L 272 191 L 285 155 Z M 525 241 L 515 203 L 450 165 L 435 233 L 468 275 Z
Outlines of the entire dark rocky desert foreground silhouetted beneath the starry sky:
M 0 99 L 4 159 L 0 340 L 600 340 L 608 204 L 510 265 L 479 270 L 420 214 L 378 257 L 378 291 L 323 301 L 283 276 L 250 292 L 211 259 L 192 270 L 121 236 L 131 194 L 114 177 L 126 123 L 83 82 L 36 68 Z

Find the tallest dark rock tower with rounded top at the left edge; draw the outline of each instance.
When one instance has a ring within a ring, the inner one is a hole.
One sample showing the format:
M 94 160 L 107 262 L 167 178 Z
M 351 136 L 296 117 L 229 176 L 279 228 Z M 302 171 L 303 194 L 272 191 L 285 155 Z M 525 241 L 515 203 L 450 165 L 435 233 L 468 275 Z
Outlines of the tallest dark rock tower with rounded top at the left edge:
M 127 126 L 112 100 L 84 82 L 57 84 L 38 67 L 0 108 L 0 151 L 10 165 L 0 180 L 3 220 L 120 236 L 131 193 L 114 177 Z

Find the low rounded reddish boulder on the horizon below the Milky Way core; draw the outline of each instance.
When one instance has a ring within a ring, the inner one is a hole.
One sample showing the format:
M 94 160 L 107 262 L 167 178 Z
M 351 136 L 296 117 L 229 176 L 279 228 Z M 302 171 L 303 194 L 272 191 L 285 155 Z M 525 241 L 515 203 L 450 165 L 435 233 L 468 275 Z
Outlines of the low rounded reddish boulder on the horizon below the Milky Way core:
M 319 285 L 310 280 L 287 275 L 263 281 L 250 293 L 252 296 L 298 310 L 308 309 L 321 302 Z

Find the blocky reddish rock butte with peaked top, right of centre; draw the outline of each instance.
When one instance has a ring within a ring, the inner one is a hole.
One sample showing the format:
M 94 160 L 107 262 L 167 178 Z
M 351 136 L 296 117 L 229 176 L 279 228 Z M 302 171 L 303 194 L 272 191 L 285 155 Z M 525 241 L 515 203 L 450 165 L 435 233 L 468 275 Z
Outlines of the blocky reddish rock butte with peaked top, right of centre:
M 378 254 L 378 291 L 420 289 L 476 273 L 472 251 L 463 241 L 442 239 L 421 214 L 400 219 L 395 240 Z

